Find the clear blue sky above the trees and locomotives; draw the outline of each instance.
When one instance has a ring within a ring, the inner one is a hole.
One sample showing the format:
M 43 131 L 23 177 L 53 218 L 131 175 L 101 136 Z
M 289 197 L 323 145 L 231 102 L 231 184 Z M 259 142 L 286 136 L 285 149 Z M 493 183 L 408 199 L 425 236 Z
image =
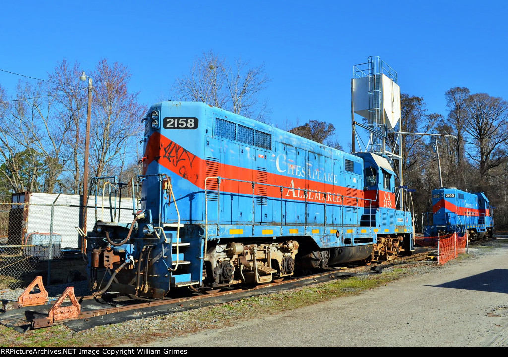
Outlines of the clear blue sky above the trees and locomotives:
M 508 99 L 507 20 L 505 1 L 6 1 L 0 69 L 46 78 L 63 58 L 90 72 L 105 57 L 149 105 L 212 49 L 265 63 L 272 123 L 328 121 L 347 148 L 353 66 L 369 55 L 429 112 L 447 114 L 454 86 Z M 19 79 L 0 72 L 11 93 Z

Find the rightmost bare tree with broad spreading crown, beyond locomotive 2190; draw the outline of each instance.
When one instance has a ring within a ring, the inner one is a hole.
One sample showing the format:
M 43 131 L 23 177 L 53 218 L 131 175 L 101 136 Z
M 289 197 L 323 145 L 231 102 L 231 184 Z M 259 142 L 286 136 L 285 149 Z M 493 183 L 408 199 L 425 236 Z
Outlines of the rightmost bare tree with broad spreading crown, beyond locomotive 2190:
M 507 125 L 508 102 L 487 93 L 468 97 L 464 130 L 469 134 L 468 155 L 478 165 L 480 182 L 487 182 L 489 170 L 506 156 Z

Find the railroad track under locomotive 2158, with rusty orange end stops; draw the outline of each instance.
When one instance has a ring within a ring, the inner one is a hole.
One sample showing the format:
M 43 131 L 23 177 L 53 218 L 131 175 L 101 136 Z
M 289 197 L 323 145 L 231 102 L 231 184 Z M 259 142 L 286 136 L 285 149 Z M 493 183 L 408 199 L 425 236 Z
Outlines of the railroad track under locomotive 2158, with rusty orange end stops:
M 413 254 L 409 257 L 398 257 L 395 261 L 380 262 L 373 266 L 355 266 L 330 268 L 327 271 L 302 277 L 287 278 L 256 286 L 240 286 L 212 291 L 213 294 L 199 294 L 176 297 L 165 300 L 148 300 L 105 294 L 102 297 L 91 295 L 75 297 L 74 288 L 69 287 L 56 301 L 39 301 L 30 306 L 20 303 L 5 303 L 5 313 L 0 314 L 0 323 L 16 329 L 40 329 L 57 324 L 66 324 L 75 331 L 108 323 L 150 317 L 155 315 L 181 312 L 205 306 L 223 304 L 251 296 L 273 293 L 318 282 L 330 281 L 344 276 L 364 275 L 367 271 L 382 270 L 394 263 L 405 261 L 422 261 L 428 251 Z M 41 280 L 42 284 L 42 280 Z M 32 286 L 30 289 L 32 289 Z M 41 286 L 39 286 L 41 287 Z M 44 288 L 42 287 L 41 290 Z M 72 291 L 71 291 L 72 290 Z M 29 291 L 29 290 L 28 290 Z M 44 290 L 45 291 L 45 290 Z M 26 290 L 25 290 L 26 293 Z M 23 293 L 23 294 L 25 294 Z M 30 294 L 33 295 L 33 294 Z M 67 302 L 70 298 L 70 303 Z

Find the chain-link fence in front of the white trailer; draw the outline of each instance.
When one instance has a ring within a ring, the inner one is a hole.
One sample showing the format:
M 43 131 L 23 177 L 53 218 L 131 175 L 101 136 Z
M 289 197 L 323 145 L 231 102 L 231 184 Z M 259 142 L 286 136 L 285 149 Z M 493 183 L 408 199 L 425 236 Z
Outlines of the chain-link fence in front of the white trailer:
M 24 192 L 12 201 L 0 203 L 0 289 L 25 287 L 37 275 L 45 284 L 86 278 L 76 229 L 83 227 L 82 197 Z M 98 219 L 132 221 L 132 199 L 90 196 L 86 212 L 91 234 Z

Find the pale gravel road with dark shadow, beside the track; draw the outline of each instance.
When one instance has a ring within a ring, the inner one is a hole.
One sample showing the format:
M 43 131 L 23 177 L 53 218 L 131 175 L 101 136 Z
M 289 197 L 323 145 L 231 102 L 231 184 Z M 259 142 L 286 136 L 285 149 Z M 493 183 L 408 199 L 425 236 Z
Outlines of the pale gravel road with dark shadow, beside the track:
M 366 290 L 146 346 L 508 346 L 508 242 Z

